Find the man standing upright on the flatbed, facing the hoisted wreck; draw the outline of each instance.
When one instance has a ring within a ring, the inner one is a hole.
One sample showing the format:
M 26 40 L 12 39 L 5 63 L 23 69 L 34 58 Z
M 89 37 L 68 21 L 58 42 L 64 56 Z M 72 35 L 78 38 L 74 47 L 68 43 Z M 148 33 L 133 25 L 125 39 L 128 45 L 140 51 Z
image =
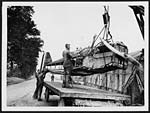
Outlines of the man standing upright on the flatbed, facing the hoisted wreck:
M 65 75 L 63 77 L 63 87 L 72 87 L 72 85 L 70 84 L 70 79 L 71 79 L 71 71 L 73 68 L 73 63 L 71 61 L 72 56 L 70 54 L 70 44 L 65 44 L 65 48 L 66 50 L 63 51 L 63 58 L 64 58 L 64 62 L 63 62 L 63 67 L 64 67 L 64 72 Z

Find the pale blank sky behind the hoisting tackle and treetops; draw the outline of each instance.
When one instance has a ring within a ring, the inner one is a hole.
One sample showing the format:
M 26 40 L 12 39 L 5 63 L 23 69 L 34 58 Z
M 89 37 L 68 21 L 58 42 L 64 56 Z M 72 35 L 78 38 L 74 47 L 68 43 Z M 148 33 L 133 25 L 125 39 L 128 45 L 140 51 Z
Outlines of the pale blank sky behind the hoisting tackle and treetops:
M 98 35 L 104 26 L 102 17 L 104 5 L 101 3 L 35 5 L 33 20 L 41 32 L 41 39 L 44 40 L 42 50 L 50 52 L 54 61 L 62 58 L 66 43 L 71 44 L 72 51 L 77 47 L 84 48 L 91 45 L 93 36 Z M 115 42 L 122 41 L 128 46 L 129 52 L 144 47 L 145 43 L 137 20 L 128 4 L 109 5 L 109 15 L 110 32 Z

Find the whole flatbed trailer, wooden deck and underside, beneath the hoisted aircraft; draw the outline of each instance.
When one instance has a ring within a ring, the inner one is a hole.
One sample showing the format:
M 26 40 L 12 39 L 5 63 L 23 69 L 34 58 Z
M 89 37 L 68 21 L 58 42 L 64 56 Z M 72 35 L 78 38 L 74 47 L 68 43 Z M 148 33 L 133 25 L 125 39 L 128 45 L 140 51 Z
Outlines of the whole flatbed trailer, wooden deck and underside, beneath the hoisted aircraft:
M 58 95 L 58 106 L 124 106 L 130 104 L 130 96 L 85 85 L 73 84 L 62 88 L 61 82 L 44 81 L 45 99 Z

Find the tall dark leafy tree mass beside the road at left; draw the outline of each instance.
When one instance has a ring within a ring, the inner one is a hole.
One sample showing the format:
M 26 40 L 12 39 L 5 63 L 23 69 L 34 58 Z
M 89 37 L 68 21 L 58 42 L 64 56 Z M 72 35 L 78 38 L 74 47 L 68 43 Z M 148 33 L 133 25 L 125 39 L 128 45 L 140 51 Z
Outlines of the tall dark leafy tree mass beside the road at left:
M 32 20 L 33 14 L 32 6 L 7 8 L 7 63 L 11 64 L 11 71 L 13 64 L 17 64 L 23 78 L 29 77 L 35 71 L 39 51 L 44 44 L 39 37 L 40 31 Z

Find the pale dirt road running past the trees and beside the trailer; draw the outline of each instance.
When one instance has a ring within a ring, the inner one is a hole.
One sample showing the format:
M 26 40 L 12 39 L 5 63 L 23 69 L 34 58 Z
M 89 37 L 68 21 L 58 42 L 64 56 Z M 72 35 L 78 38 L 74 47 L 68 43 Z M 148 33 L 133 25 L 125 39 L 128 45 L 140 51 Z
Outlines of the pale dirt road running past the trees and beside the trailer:
M 50 76 L 46 76 L 45 80 L 50 80 Z M 55 79 L 60 81 L 59 79 Z M 44 99 L 44 91 L 42 94 L 42 100 L 38 101 L 32 98 L 36 87 L 36 79 L 33 78 L 28 81 L 24 81 L 19 84 L 7 86 L 7 106 L 57 106 L 58 96 L 51 96 L 50 102 L 46 102 Z

